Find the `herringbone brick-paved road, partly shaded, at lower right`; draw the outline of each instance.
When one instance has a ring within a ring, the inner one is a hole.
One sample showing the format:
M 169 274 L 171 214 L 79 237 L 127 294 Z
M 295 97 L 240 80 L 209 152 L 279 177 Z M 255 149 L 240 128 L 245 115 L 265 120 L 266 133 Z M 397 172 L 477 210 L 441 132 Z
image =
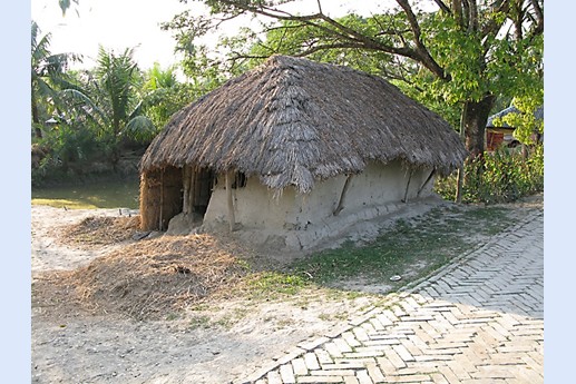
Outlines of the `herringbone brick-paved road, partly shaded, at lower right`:
M 240 383 L 544 383 L 544 217 Z

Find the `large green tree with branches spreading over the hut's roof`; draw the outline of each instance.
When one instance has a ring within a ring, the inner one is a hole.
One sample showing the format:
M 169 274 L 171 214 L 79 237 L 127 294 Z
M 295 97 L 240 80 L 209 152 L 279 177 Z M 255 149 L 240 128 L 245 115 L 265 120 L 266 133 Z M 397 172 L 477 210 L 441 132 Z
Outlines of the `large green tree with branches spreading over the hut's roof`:
M 232 47 L 232 63 L 279 51 L 297 56 L 353 51 L 372 61 L 382 60 L 383 75 L 406 79 L 410 87 L 461 108 L 460 129 L 471 156 L 484 151 L 485 127 L 497 97 L 514 96 L 510 93 L 543 71 L 543 0 L 428 0 L 414 4 L 396 0 L 397 6 L 384 13 L 341 19 L 324 13 L 320 0 L 318 11 L 311 14 L 283 10 L 281 6 L 290 2 L 285 0 L 202 2 L 209 6 L 209 16 L 183 13 L 165 26 L 178 31 L 180 46 L 198 52 L 202 47 L 195 45 L 196 38 L 248 14 L 276 21 L 265 24 L 264 32 L 297 33 L 299 39 L 280 39 L 280 46 L 262 42 L 263 53 L 251 55 L 238 51 L 238 42 L 245 38 L 256 41 L 258 35 L 245 31 L 226 42 Z

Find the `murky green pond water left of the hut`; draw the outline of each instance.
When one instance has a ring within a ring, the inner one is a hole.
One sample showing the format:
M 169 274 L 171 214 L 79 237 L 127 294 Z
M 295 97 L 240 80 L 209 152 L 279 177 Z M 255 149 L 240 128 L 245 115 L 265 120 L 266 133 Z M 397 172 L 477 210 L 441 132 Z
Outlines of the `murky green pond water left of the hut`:
M 32 204 L 72 209 L 138 209 L 138 180 L 102 181 L 80 186 L 32 188 Z

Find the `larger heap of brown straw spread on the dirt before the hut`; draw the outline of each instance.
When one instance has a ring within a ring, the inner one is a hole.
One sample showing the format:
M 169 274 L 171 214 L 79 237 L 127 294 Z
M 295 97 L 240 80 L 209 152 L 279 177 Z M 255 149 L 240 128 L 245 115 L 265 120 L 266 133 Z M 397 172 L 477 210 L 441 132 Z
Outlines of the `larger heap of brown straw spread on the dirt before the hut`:
M 35 282 L 32 301 L 46 315 L 88 312 L 158 319 L 233 289 L 247 273 L 238 252 L 209 235 L 141 240 L 85 267 L 42 274 Z

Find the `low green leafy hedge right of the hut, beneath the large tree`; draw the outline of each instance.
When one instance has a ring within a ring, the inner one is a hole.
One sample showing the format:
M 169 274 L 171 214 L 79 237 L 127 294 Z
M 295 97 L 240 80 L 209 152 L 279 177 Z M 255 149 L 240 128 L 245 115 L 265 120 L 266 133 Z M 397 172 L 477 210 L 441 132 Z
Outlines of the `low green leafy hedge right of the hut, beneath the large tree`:
M 456 196 L 456 173 L 438 178 L 435 190 L 445 199 Z M 528 158 L 501 148 L 467 160 L 462 185 L 463 203 L 508 203 L 544 190 L 544 146 Z

